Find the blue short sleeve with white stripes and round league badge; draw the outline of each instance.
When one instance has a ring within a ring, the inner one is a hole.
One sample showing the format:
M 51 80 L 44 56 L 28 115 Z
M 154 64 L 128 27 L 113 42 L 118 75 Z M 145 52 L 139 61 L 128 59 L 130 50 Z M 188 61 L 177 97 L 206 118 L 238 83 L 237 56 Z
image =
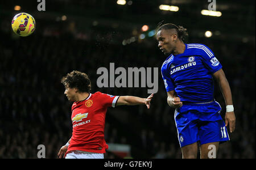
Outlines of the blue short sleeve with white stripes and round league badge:
M 207 67 L 210 73 L 213 74 L 222 68 L 221 63 L 214 56 L 214 53 L 212 52 L 212 50 L 208 48 L 208 46 L 202 44 L 200 45 L 200 49 L 203 62 L 205 63 L 205 66 Z

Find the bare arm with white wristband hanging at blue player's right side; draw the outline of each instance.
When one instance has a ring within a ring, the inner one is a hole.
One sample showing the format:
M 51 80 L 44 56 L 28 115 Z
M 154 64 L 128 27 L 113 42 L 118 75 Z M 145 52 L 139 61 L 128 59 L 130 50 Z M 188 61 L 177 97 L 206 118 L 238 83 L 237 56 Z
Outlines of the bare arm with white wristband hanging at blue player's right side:
M 216 71 L 213 76 L 217 80 L 218 85 L 220 86 L 220 90 L 222 92 L 222 95 L 224 96 L 227 106 L 225 115 L 225 126 L 228 126 L 229 124 L 229 130 L 232 133 L 236 126 L 236 116 L 234 114 L 232 94 L 229 87 L 229 82 L 226 79 L 225 73 L 222 69 Z

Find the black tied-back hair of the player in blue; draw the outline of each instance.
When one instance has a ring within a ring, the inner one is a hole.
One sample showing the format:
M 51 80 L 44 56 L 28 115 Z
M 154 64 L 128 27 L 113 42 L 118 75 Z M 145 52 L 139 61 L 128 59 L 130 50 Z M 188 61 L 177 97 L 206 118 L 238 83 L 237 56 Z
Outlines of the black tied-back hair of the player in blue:
M 175 29 L 176 32 L 177 32 L 177 37 L 180 39 L 180 40 L 184 40 L 185 37 L 188 36 L 188 32 L 187 32 L 187 28 L 184 28 L 183 26 L 180 26 L 180 25 L 175 25 L 175 24 L 172 24 L 172 23 L 167 23 L 167 24 L 162 24 L 160 23 L 158 25 L 158 28 L 156 29 L 158 31 L 160 31 L 161 29 Z

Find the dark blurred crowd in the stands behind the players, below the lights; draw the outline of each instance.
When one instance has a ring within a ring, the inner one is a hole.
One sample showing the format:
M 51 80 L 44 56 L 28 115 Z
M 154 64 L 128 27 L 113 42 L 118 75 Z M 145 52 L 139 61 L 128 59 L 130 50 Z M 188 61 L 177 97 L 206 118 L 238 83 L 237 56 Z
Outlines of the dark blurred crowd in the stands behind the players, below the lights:
M 5 29 L 5 28 L 2 28 Z M 98 88 L 97 69 L 114 62 L 117 67 L 158 67 L 158 92 L 151 108 L 109 108 L 105 140 L 131 146 L 132 158 L 181 158 L 174 109 L 160 74 L 165 56 L 154 37 L 152 45 L 138 41 L 123 46 L 109 41 L 111 35 L 80 40 L 73 35 L 35 32 L 26 38 L 0 31 L 0 158 L 38 158 L 38 145 L 46 146 L 46 158 L 57 158 L 60 147 L 71 138 L 71 105 L 60 79 L 79 70 L 89 75 L 92 92 L 147 97 L 147 88 Z M 97 37 L 92 32 L 91 37 Z M 119 35 L 118 35 L 119 36 Z M 209 46 L 221 62 L 232 89 L 236 130 L 219 147 L 218 158 L 255 158 L 255 44 L 195 39 Z M 217 84 L 215 99 L 225 116 L 225 101 Z M 125 117 L 125 118 L 124 118 Z M 107 151 L 105 158 L 117 158 Z

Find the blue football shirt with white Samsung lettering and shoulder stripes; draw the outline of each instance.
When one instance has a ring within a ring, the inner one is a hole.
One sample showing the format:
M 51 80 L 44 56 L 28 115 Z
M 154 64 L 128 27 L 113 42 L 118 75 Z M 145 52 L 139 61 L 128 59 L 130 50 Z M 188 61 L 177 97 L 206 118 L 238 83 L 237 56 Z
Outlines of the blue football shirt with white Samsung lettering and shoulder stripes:
M 212 74 L 222 68 L 204 44 L 185 44 L 182 54 L 171 54 L 161 71 L 166 91 L 175 90 L 181 101 L 205 103 L 214 99 Z

